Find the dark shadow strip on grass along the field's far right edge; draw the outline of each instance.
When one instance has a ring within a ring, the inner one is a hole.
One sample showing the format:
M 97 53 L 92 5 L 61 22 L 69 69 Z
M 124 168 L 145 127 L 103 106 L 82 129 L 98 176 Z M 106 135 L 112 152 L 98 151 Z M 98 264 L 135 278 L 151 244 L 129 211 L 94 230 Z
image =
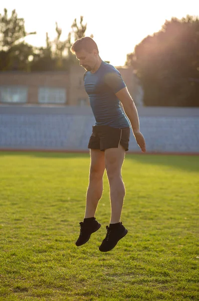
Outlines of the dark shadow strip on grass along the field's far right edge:
M 144 165 L 154 164 L 154 165 L 171 166 L 188 172 L 199 173 L 199 156 L 129 154 L 126 156 L 126 159 L 133 160 L 133 161 L 135 160 Z

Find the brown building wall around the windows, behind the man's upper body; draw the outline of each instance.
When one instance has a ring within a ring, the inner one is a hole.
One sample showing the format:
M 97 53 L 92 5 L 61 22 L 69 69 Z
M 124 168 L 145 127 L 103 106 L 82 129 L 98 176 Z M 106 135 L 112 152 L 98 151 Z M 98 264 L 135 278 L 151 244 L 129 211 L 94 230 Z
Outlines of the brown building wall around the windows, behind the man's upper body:
M 137 83 L 133 75 L 132 68 L 118 67 L 127 88 L 131 95 L 134 97 L 136 103 Z M 69 72 L 0 72 L 0 89 L 1 87 L 8 86 L 23 86 L 28 89 L 27 103 L 38 104 L 38 93 L 40 87 L 48 88 L 64 88 L 66 91 L 65 105 L 79 105 L 80 100 L 85 100 L 84 104 L 90 106 L 89 97 L 84 89 L 83 75 L 85 69 L 74 65 Z M 139 94 L 139 93 L 138 93 Z M 0 104 L 1 100 L 0 93 Z M 8 103 L 9 105 L 9 103 Z M 14 103 L 10 103 L 14 105 Z M 15 105 L 19 105 L 16 103 Z M 57 104 L 57 106 L 60 104 Z

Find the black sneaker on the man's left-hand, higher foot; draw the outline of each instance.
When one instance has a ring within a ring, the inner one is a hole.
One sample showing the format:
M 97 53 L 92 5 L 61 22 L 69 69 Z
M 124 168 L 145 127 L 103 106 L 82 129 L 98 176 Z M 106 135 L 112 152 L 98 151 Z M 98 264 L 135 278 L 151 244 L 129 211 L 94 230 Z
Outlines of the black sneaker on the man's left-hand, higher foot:
M 93 220 L 89 223 L 80 222 L 80 236 L 76 241 L 76 246 L 81 246 L 85 244 L 91 237 L 91 234 L 99 230 L 101 224 L 98 221 Z

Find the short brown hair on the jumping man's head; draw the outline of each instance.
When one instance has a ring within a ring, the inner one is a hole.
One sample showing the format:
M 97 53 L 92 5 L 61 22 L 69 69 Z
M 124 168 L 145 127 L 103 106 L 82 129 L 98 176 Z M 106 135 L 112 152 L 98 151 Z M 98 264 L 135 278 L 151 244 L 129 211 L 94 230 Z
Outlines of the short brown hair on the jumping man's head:
M 75 41 L 75 43 L 70 48 L 73 54 L 75 54 L 76 52 L 82 49 L 86 50 L 89 53 L 91 53 L 93 49 L 96 49 L 97 53 L 99 54 L 97 44 L 91 37 L 84 37 Z

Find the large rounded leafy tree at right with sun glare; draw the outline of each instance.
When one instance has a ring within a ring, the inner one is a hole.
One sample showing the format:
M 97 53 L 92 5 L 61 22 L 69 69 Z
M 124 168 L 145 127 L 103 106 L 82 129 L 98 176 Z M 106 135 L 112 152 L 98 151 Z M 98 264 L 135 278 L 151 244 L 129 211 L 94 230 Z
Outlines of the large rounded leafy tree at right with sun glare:
M 127 55 L 144 88 L 146 105 L 199 106 L 199 20 L 166 21 Z

